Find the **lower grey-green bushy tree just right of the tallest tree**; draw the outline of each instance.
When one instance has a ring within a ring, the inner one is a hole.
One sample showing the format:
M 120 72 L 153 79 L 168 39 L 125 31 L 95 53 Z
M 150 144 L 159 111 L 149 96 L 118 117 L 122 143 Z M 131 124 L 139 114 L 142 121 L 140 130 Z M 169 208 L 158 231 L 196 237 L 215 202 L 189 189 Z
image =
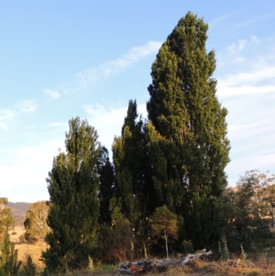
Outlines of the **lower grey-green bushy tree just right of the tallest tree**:
M 252 242 L 271 235 L 268 220 L 262 218 L 266 211 L 261 200 L 261 174 L 247 171 L 237 184 L 236 191 L 226 189 L 223 197 L 217 200 L 219 223 L 232 252 L 239 251 L 239 244 L 249 251 Z

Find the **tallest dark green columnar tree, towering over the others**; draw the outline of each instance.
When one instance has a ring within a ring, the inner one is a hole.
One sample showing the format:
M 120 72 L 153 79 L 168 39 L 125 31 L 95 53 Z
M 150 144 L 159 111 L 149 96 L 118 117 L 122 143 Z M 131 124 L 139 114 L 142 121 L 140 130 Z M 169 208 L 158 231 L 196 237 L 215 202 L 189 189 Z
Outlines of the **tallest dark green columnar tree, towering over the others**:
M 181 237 L 195 248 L 217 241 L 214 198 L 224 191 L 227 109 L 216 96 L 208 25 L 188 12 L 159 49 L 147 103 L 148 149 L 159 199 L 184 218 Z

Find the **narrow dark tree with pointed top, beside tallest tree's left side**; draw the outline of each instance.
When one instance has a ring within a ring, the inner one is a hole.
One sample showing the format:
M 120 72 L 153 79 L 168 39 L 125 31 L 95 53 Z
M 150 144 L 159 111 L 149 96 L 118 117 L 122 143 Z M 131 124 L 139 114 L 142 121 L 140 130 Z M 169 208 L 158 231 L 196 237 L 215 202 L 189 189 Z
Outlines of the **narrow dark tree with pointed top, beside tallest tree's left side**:
M 122 210 L 130 222 L 138 224 L 155 209 L 151 167 L 146 153 L 144 122 L 137 114 L 136 101 L 130 100 L 122 136 L 113 142 L 115 189 Z

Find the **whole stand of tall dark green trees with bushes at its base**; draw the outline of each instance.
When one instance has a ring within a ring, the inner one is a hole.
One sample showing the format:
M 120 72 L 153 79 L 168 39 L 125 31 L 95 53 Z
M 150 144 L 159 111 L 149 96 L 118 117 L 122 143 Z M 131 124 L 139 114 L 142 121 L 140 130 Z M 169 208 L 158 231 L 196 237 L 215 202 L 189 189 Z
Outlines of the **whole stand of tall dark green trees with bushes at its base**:
M 129 100 L 113 162 L 87 120 L 69 120 L 66 151 L 46 180 L 47 269 L 85 267 L 89 256 L 118 262 L 217 248 L 223 235 L 231 250 L 270 237 L 274 186 L 266 184 L 274 178 L 250 171 L 236 191 L 226 189 L 228 111 L 216 95 L 207 30 L 191 12 L 179 20 L 152 65 L 148 118 Z

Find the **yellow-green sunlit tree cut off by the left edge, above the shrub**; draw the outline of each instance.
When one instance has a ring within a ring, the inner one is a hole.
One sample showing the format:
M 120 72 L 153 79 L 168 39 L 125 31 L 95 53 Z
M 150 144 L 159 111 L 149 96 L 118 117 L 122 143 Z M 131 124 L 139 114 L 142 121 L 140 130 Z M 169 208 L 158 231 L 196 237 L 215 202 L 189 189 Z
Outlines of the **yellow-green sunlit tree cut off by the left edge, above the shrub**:
M 14 226 L 12 210 L 8 208 L 8 198 L 0 198 L 0 242 L 3 241 L 5 233 L 8 233 Z

